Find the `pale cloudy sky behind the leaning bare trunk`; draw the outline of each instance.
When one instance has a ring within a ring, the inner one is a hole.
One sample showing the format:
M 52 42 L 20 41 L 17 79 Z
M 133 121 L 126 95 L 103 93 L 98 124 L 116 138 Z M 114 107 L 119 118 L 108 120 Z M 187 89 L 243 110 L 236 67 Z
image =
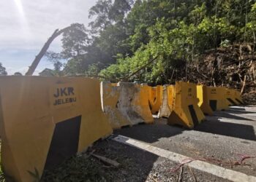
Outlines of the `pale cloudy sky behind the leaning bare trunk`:
M 45 41 L 57 28 L 88 25 L 89 9 L 97 0 L 0 0 L 0 63 L 8 75 L 25 74 Z M 61 51 L 61 37 L 49 50 Z M 52 63 L 42 59 L 34 75 Z

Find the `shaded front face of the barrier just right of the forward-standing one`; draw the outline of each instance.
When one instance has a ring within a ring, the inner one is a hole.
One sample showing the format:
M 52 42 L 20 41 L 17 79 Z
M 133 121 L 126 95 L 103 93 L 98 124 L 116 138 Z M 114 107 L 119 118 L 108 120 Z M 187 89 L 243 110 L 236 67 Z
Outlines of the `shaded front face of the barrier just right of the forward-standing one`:
M 213 111 L 222 111 L 229 108 L 225 87 L 207 87 L 208 103 Z

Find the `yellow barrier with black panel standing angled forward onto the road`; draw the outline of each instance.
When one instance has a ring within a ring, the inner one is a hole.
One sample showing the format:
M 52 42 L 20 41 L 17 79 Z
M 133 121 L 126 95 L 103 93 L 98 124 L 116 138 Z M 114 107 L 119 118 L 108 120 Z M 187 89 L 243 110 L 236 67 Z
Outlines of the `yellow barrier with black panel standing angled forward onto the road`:
M 193 128 L 205 119 L 197 99 L 196 84 L 176 82 L 173 94 L 173 110 L 167 119 L 168 124 L 179 124 Z

